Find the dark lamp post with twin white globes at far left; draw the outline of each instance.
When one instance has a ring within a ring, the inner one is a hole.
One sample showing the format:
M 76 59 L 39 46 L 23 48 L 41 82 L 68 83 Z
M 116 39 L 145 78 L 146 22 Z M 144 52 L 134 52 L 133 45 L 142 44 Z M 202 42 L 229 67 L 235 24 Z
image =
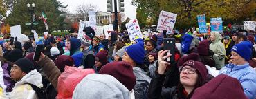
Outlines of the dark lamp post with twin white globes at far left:
M 31 28 L 31 30 L 34 30 L 34 22 L 36 20 L 35 14 L 34 14 L 35 3 L 32 3 L 31 7 L 30 7 L 30 3 L 28 3 L 27 7 L 28 7 L 28 12 L 30 13 L 30 19 L 31 19 L 31 27 L 30 28 Z M 34 34 L 32 31 L 31 31 L 30 35 L 34 37 Z

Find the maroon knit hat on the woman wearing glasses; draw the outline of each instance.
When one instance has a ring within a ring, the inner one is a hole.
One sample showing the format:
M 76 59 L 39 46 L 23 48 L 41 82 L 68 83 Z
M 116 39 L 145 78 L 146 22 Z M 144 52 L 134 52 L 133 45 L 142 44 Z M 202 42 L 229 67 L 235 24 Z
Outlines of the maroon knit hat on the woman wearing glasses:
M 183 67 L 184 66 L 194 67 L 199 72 L 199 75 L 201 75 L 201 77 L 202 77 L 201 83 L 205 83 L 205 79 L 208 74 L 208 71 L 207 71 L 205 65 L 203 65 L 203 63 L 201 63 L 199 61 L 188 60 L 182 66 Z

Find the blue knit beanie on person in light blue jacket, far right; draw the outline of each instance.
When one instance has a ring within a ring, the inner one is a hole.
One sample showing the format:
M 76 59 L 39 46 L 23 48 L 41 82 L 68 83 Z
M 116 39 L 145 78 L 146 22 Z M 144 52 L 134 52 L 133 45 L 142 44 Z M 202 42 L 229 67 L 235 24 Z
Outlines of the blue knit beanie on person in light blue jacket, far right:
M 242 41 L 232 47 L 231 51 L 237 52 L 246 61 L 250 60 L 250 55 L 252 54 L 253 44 L 250 41 Z

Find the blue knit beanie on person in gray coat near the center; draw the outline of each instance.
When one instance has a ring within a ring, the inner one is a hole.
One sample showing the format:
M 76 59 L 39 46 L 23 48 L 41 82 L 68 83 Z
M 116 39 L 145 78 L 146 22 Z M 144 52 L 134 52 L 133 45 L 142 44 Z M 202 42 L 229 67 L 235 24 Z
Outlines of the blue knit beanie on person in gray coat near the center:
M 134 45 L 130 45 L 126 48 L 126 52 L 131 57 L 131 59 L 135 61 L 135 63 L 143 64 L 145 56 L 143 41 L 139 41 Z

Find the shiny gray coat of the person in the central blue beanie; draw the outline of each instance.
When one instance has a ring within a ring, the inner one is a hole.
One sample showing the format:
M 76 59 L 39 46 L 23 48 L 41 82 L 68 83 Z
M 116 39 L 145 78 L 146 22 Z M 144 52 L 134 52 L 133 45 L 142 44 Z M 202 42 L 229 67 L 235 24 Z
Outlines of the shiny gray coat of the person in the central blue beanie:
M 136 84 L 134 86 L 135 99 L 147 99 L 151 78 L 139 67 L 133 67 L 133 70 L 134 75 L 136 76 Z

